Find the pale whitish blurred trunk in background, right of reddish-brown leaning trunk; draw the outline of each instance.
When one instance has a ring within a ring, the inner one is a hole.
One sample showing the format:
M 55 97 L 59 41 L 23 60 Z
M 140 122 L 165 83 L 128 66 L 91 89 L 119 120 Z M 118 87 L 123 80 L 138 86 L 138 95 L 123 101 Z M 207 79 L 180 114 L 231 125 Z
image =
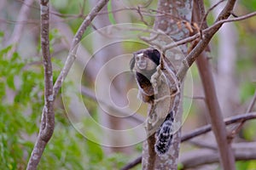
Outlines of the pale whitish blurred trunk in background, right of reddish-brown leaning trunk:
M 218 3 L 212 0 L 211 4 Z M 220 3 L 212 14 L 218 17 L 224 3 Z M 236 105 L 239 100 L 239 90 L 236 85 L 236 43 L 237 32 L 234 23 L 227 23 L 218 31 L 218 81 L 216 85 L 218 101 L 224 117 L 234 116 L 236 113 Z M 232 95 L 230 95 L 232 94 Z

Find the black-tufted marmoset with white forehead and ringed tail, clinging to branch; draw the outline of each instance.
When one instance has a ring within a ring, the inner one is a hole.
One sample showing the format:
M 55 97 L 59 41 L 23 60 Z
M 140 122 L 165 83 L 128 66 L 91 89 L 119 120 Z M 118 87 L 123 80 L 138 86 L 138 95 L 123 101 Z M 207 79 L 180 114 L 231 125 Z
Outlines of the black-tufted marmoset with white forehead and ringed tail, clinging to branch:
M 135 71 L 139 97 L 143 102 L 151 105 L 154 105 L 154 88 L 150 80 L 158 65 L 160 65 L 160 52 L 154 48 L 137 51 L 130 62 L 131 71 Z M 156 132 L 154 150 L 158 155 L 166 154 L 172 144 L 173 120 L 173 111 L 171 111 Z

